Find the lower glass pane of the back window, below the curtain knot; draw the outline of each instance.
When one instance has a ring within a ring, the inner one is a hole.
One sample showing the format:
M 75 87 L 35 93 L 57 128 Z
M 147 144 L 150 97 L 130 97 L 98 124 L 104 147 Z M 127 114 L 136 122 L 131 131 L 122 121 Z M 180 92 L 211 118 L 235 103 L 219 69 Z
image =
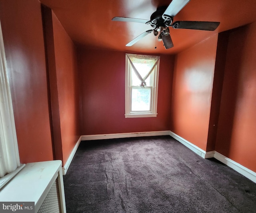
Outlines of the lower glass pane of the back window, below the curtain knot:
M 132 111 L 150 111 L 150 88 L 132 88 Z

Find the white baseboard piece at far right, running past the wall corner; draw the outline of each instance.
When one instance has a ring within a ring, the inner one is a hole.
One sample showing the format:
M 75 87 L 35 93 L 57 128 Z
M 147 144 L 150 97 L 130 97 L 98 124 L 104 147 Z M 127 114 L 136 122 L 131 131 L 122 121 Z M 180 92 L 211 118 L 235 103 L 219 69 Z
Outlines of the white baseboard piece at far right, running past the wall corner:
M 214 158 L 219 160 L 220 162 L 226 164 L 227 166 L 231 167 L 241 175 L 244 175 L 254 183 L 256 183 L 256 172 L 244 167 L 243 165 L 237 163 L 236 161 L 233 161 L 232 159 L 225 157 L 224 155 L 218 153 L 215 151 Z

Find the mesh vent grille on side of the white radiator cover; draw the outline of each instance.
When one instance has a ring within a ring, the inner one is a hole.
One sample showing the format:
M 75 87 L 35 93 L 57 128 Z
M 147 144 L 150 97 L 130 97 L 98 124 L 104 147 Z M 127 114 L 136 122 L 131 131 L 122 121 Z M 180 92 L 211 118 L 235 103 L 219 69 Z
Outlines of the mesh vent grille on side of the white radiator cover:
M 58 179 L 52 185 L 48 195 L 42 203 L 38 213 L 60 213 L 60 193 L 58 187 Z

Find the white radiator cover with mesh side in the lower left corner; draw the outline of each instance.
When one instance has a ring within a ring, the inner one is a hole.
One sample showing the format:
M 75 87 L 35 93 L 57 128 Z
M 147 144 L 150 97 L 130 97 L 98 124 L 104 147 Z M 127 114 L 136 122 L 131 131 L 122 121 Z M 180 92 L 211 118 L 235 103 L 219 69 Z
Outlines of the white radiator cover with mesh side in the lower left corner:
M 35 202 L 35 213 L 66 213 L 62 161 L 27 163 L 0 190 L 1 202 Z

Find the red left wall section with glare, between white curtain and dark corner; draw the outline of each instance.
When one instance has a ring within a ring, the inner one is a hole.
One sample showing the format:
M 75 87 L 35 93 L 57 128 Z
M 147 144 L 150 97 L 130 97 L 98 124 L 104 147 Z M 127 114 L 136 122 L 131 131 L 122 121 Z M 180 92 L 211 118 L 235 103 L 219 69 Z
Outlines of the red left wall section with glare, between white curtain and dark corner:
M 40 2 L 0 1 L 21 163 L 53 159 Z

